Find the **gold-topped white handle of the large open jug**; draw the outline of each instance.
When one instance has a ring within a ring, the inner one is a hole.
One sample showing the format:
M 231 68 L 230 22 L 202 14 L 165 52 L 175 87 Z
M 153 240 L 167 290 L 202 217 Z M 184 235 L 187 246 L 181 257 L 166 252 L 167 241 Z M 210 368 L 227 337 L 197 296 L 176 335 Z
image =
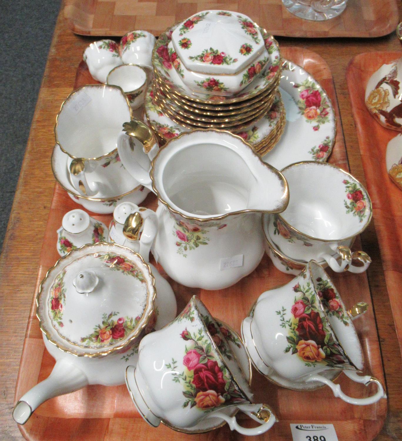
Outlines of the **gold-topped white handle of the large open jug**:
M 153 189 L 149 172 L 158 149 L 153 132 L 143 122 L 132 120 L 123 124 L 123 131 L 117 139 L 120 160 L 130 175 L 151 191 Z

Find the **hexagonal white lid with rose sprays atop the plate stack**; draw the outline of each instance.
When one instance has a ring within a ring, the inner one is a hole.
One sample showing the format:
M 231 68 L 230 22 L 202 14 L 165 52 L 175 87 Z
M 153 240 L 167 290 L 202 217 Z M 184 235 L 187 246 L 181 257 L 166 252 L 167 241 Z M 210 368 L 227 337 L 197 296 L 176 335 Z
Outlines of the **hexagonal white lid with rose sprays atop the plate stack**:
M 249 17 L 231 11 L 202 11 L 184 20 L 171 40 L 187 69 L 234 75 L 264 49 L 260 31 Z

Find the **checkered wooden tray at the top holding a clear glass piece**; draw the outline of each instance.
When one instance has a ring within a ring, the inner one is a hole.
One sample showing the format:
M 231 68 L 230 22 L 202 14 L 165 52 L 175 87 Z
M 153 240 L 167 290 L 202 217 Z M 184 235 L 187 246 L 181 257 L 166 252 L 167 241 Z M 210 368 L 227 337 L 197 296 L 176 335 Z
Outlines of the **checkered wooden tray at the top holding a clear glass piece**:
M 323 22 L 299 19 L 282 0 L 65 0 L 64 16 L 75 34 L 121 37 L 134 29 L 159 35 L 205 9 L 245 13 L 271 34 L 284 37 L 381 37 L 398 24 L 397 0 L 349 0 L 339 17 Z

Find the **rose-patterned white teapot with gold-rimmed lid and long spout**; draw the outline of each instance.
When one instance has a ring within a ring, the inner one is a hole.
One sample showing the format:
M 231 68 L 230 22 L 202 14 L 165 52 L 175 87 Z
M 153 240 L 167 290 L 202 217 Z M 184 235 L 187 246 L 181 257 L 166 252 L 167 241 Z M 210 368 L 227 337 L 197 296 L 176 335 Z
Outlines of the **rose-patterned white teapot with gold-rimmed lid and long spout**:
M 42 280 L 36 303 L 56 364 L 15 405 L 19 424 L 55 396 L 89 384 L 123 384 L 141 338 L 176 315 L 175 295 L 155 267 L 112 243 L 86 244 L 60 258 Z

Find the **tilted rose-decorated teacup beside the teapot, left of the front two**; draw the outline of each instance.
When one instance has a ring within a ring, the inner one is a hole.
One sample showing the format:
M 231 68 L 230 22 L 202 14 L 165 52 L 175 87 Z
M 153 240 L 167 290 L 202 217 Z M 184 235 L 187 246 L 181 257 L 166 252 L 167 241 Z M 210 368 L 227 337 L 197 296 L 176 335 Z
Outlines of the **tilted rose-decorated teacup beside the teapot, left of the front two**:
M 174 321 L 141 340 L 137 366 L 127 368 L 126 384 L 140 415 L 155 427 L 164 422 L 188 430 L 212 418 L 243 435 L 257 435 L 276 421 L 268 406 L 252 403 L 234 353 L 196 296 Z M 227 415 L 237 409 L 260 426 L 239 426 L 235 416 Z

